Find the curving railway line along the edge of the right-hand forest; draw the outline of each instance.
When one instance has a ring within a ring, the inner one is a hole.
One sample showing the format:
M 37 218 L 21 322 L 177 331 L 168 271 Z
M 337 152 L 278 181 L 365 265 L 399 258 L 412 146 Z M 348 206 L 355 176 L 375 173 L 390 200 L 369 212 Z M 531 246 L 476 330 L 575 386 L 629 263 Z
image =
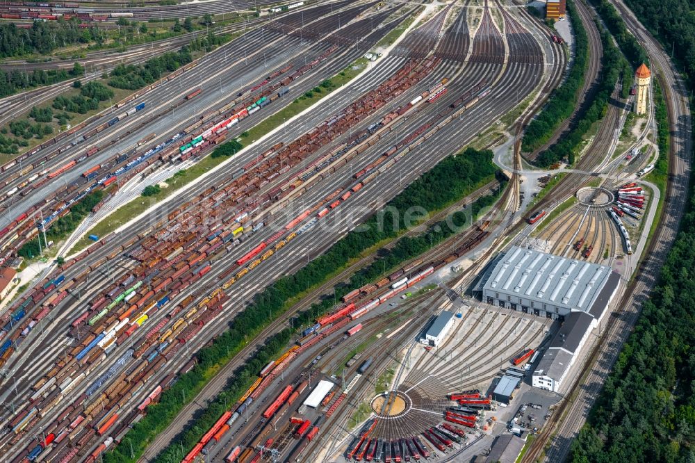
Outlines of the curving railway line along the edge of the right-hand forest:
M 569 455 L 569 444 L 587 419 L 587 413 L 603 389 L 603 383 L 610 375 L 612 365 L 619 355 L 620 349 L 616 346 L 621 346 L 630 335 L 639 316 L 641 304 L 656 284 L 657 275 L 660 275 L 659 268 L 676 238 L 678 223 L 685 210 L 687 195 L 682 194 L 682 191 L 689 191 L 692 133 L 689 104 L 683 97 L 687 94 L 684 92 L 685 85 L 678 72 L 675 72 L 661 44 L 646 31 L 622 1 L 612 3 L 626 21 L 630 32 L 634 33 L 646 48 L 652 62 L 660 68 L 659 78 L 665 84 L 662 88 L 667 100 L 671 127 L 667 197 L 664 198 L 661 225 L 645 249 L 639 273 L 631 279 L 619 303 L 621 316 L 605 327 L 596 347 L 591 350 L 589 359 L 576 375 L 577 380 L 571 384 L 571 389 L 577 390 L 578 395 L 571 401 L 564 400 L 560 403 L 539 438 L 534 440 L 526 453 L 524 462 L 532 462 L 539 458 L 546 461 L 564 460 Z M 581 384 L 586 386 L 579 387 Z M 549 444 L 548 450 L 544 450 L 546 444 Z

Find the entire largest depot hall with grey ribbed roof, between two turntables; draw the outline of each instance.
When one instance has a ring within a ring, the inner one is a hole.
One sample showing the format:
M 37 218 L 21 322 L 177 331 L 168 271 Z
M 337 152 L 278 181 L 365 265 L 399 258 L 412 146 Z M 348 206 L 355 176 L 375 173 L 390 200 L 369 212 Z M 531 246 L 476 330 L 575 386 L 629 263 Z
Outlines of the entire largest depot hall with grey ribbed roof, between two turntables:
M 574 311 L 600 320 L 620 284 L 608 266 L 513 246 L 473 289 L 489 304 L 547 318 Z

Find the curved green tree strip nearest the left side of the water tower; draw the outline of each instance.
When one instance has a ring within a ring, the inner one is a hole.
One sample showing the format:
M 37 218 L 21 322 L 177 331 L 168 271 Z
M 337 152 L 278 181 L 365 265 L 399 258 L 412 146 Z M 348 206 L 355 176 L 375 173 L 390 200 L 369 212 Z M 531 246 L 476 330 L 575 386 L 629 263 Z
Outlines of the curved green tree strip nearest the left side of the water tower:
M 537 164 L 543 168 L 547 168 L 557 161 L 562 161 L 562 159 L 566 159 L 570 164 L 574 163 L 575 149 L 584 141 L 584 134 L 591 129 L 591 125 L 605 116 L 615 84 L 626 69 L 626 60 L 613 44 L 610 33 L 598 21 L 596 26 L 600 32 L 601 44 L 603 44 L 602 70 L 600 72 L 598 91 L 594 95 L 587 111 L 575 123 L 575 127 L 566 133 L 555 145 L 546 149 L 538 156 Z

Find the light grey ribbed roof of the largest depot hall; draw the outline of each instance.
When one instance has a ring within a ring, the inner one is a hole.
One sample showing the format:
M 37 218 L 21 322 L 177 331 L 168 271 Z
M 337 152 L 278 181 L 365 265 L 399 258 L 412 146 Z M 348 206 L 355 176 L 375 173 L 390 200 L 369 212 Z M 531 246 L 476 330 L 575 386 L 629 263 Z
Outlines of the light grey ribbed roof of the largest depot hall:
M 482 289 L 589 312 L 612 273 L 607 266 L 513 246 L 496 261 Z

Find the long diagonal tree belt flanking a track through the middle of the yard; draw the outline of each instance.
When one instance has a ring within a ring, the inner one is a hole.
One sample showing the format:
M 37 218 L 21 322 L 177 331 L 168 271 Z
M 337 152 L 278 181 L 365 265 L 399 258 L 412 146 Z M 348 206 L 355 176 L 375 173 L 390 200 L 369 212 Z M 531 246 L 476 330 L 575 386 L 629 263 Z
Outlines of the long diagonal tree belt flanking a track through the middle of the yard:
M 423 174 L 422 177 L 409 185 L 400 195 L 396 196 L 387 204 L 386 209 L 405 211 L 411 206 L 423 206 L 426 211 L 441 209 L 451 202 L 465 197 L 475 189 L 491 181 L 498 172 L 492 163 L 492 152 L 478 152 L 475 149 L 466 149 L 465 152 L 450 156 L 441 161 L 432 170 Z M 441 188 L 447 185 L 448 188 Z M 500 188 L 501 190 L 501 188 Z M 473 211 L 479 211 L 485 205 L 493 201 L 493 197 L 480 199 L 480 204 L 472 205 Z M 379 226 L 381 218 L 373 216 L 366 220 L 358 229 L 348 233 L 344 238 L 336 242 L 325 254 L 317 257 L 304 268 L 293 275 L 282 277 L 275 283 L 268 286 L 263 292 L 256 295 L 254 300 L 240 311 L 237 316 L 229 323 L 229 330 L 220 334 L 212 343 L 197 352 L 198 364 L 192 371 L 181 376 L 181 379 L 170 389 L 164 391 L 161 401 L 157 405 L 148 408 L 147 416 L 137 423 L 131 431 L 124 437 L 120 445 L 116 446 L 112 452 L 104 455 L 106 463 L 111 462 L 134 462 L 142 455 L 156 435 L 164 430 L 173 421 L 183 405 L 190 401 L 195 394 L 204 387 L 204 384 L 211 377 L 211 372 L 216 368 L 229 362 L 236 353 L 254 336 L 261 332 L 265 326 L 286 311 L 286 304 L 292 298 L 301 294 L 306 289 L 316 286 L 325 281 L 328 275 L 347 264 L 350 259 L 359 257 L 361 252 L 373 246 L 375 243 L 386 238 L 395 238 L 405 227 L 402 214 L 394 219 L 394 214 L 385 214 L 384 227 Z M 466 218 L 457 216 L 454 222 L 462 225 Z M 441 223 L 441 229 L 449 230 L 448 225 Z M 427 233 L 436 233 L 439 239 L 444 238 L 441 231 L 436 231 L 434 227 Z M 446 232 L 445 232 L 446 233 Z M 409 238 L 411 239 L 411 238 Z M 437 241 L 439 242 L 439 241 Z M 417 244 L 400 244 L 389 253 L 385 253 L 365 270 L 361 277 L 357 277 L 350 284 L 340 284 L 335 287 L 334 297 L 324 298 L 321 302 L 312 304 L 309 309 L 303 311 L 295 317 L 294 326 L 302 326 L 311 323 L 311 320 L 324 314 L 334 306 L 335 300 L 352 289 L 361 286 L 361 281 L 370 275 L 378 274 L 386 266 L 393 266 L 396 262 L 404 261 L 414 257 L 420 252 L 420 246 L 434 245 L 434 237 L 430 241 L 429 236 L 425 235 L 424 240 Z M 382 261 L 381 259 L 389 259 Z M 298 329 L 297 329 L 298 330 Z M 222 393 L 213 400 L 201 416 L 191 423 L 186 430 L 179 435 L 170 446 L 163 450 L 156 457 L 156 462 L 177 462 L 181 460 L 181 446 L 184 452 L 188 453 L 190 448 L 196 444 L 202 434 L 210 428 L 224 412 L 235 403 L 244 391 L 250 387 L 255 380 L 258 372 L 274 358 L 286 346 L 291 338 L 293 330 L 285 329 L 275 336 L 270 336 L 252 359 L 231 376 Z M 135 455 L 131 458 L 131 448 Z

